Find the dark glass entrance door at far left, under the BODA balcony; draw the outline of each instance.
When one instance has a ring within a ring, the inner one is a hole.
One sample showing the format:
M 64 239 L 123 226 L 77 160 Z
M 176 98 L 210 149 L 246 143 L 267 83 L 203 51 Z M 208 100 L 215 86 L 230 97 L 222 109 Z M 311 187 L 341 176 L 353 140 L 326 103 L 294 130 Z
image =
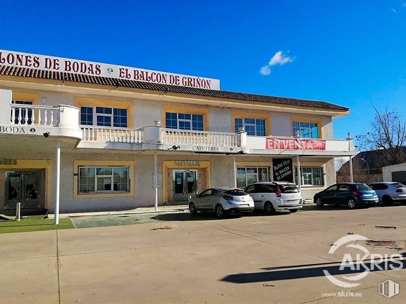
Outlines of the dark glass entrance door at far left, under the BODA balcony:
M 5 209 L 14 209 L 17 203 L 21 208 L 41 208 L 41 172 L 6 172 Z

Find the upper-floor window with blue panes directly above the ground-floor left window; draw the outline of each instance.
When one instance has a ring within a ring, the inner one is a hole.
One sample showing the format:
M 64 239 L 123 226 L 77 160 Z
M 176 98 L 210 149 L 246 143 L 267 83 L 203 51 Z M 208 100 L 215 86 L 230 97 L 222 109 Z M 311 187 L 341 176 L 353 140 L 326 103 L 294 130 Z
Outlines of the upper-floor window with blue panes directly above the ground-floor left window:
M 127 109 L 80 107 L 80 124 L 101 127 L 127 127 Z

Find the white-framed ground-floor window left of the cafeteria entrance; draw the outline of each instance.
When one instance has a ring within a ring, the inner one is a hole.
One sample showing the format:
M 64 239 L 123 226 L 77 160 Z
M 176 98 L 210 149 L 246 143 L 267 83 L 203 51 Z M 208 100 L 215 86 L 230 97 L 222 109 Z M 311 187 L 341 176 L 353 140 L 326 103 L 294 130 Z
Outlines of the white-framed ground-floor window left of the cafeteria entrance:
M 79 193 L 130 192 L 130 167 L 79 167 Z

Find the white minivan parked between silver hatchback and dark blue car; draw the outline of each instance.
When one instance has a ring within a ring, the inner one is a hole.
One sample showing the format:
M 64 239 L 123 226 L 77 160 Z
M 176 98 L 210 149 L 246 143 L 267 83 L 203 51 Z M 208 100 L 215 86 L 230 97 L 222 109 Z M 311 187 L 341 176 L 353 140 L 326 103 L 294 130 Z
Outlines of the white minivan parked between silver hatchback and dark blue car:
M 244 191 L 252 196 L 255 209 L 265 210 L 268 214 L 282 210 L 294 213 L 303 207 L 302 194 L 291 182 L 255 182 L 246 186 Z

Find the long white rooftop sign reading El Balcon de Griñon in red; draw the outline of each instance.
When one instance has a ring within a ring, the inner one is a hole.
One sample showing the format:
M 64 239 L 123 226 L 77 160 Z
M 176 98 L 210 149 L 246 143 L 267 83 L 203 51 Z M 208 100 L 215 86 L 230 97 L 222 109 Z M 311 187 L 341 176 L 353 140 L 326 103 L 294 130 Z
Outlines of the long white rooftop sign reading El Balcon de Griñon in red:
M 220 90 L 220 80 L 84 60 L 0 50 L 0 65 Z

